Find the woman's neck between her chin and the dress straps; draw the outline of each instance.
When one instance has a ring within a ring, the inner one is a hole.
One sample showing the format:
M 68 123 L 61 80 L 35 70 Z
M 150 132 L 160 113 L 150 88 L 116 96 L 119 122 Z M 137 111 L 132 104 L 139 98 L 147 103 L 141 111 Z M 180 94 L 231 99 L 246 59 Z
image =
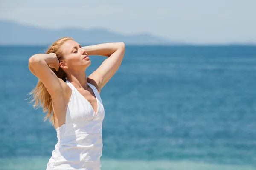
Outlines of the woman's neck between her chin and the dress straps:
M 85 71 L 71 72 L 68 74 L 67 80 L 72 82 L 76 88 L 84 88 L 85 90 L 88 88 Z

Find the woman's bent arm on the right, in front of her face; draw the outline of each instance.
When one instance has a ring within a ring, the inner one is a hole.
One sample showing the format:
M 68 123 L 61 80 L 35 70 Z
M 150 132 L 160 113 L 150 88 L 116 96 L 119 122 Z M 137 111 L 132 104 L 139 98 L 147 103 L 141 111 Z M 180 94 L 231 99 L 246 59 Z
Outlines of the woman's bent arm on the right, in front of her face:
M 123 42 L 105 43 L 83 47 L 88 55 L 100 55 L 108 57 L 88 78 L 93 79 L 98 91 L 106 85 L 106 83 L 113 77 L 121 65 L 125 54 L 125 44 Z

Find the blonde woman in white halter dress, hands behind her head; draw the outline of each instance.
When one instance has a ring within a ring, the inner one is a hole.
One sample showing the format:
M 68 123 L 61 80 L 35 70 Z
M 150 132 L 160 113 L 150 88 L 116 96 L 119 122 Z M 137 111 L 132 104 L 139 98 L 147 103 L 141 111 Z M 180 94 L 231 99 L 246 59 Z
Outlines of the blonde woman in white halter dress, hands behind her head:
M 48 112 L 58 142 L 47 170 L 99 170 L 102 156 L 102 121 L 105 116 L 100 91 L 119 68 L 124 43 L 81 47 L 64 37 L 49 47 L 47 54 L 29 59 L 29 70 L 39 81 L 31 91 L 35 106 Z M 108 57 L 90 76 L 88 56 Z

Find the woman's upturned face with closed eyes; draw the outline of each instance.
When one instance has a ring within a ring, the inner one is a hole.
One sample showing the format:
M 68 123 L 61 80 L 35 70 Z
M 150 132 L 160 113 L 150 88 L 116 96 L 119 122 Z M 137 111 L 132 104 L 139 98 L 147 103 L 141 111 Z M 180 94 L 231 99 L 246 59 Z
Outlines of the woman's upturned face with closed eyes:
M 64 54 L 64 62 L 61 63 L 61 68 L 68 70 L 86 69 L 91 61 L 86 51 L 76 41 L 68 40 L 61 46 Z

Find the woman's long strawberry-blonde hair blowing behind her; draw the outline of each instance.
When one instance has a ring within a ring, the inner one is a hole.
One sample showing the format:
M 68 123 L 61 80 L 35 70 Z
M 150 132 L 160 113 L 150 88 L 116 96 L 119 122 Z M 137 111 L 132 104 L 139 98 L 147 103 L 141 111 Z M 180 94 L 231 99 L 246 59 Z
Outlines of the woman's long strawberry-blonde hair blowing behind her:
M 57 41 L 55 41 L 51 46 L 48 47 L 46 54 L 55 53 L 59 62 L 64 60 L 63 52 L 61 51 L 60 47 L 64 44 L 64 42 L 68 40 L 73 40 L 70 37 L 63 37 Z M 59 68 L 57 72 L 55 68 L 50 68 L 58 78 L 64 80 L 66 82 L 67 74 L 63 71 L 62 68 Z M 38 80 L 36 87 L 29 92 L 30 95 L 33 96 L 31 102 L 34 103 L 34 108 L 42 107 L 44 112 L 47 112 L 47 115 L 44 117 L 44 122 L 49 118 L 49 121 L 55 125 L 55 116 L 52 109 L 52 97 L 50 96 L 49 92 L 45 88 L 44 84 Z

